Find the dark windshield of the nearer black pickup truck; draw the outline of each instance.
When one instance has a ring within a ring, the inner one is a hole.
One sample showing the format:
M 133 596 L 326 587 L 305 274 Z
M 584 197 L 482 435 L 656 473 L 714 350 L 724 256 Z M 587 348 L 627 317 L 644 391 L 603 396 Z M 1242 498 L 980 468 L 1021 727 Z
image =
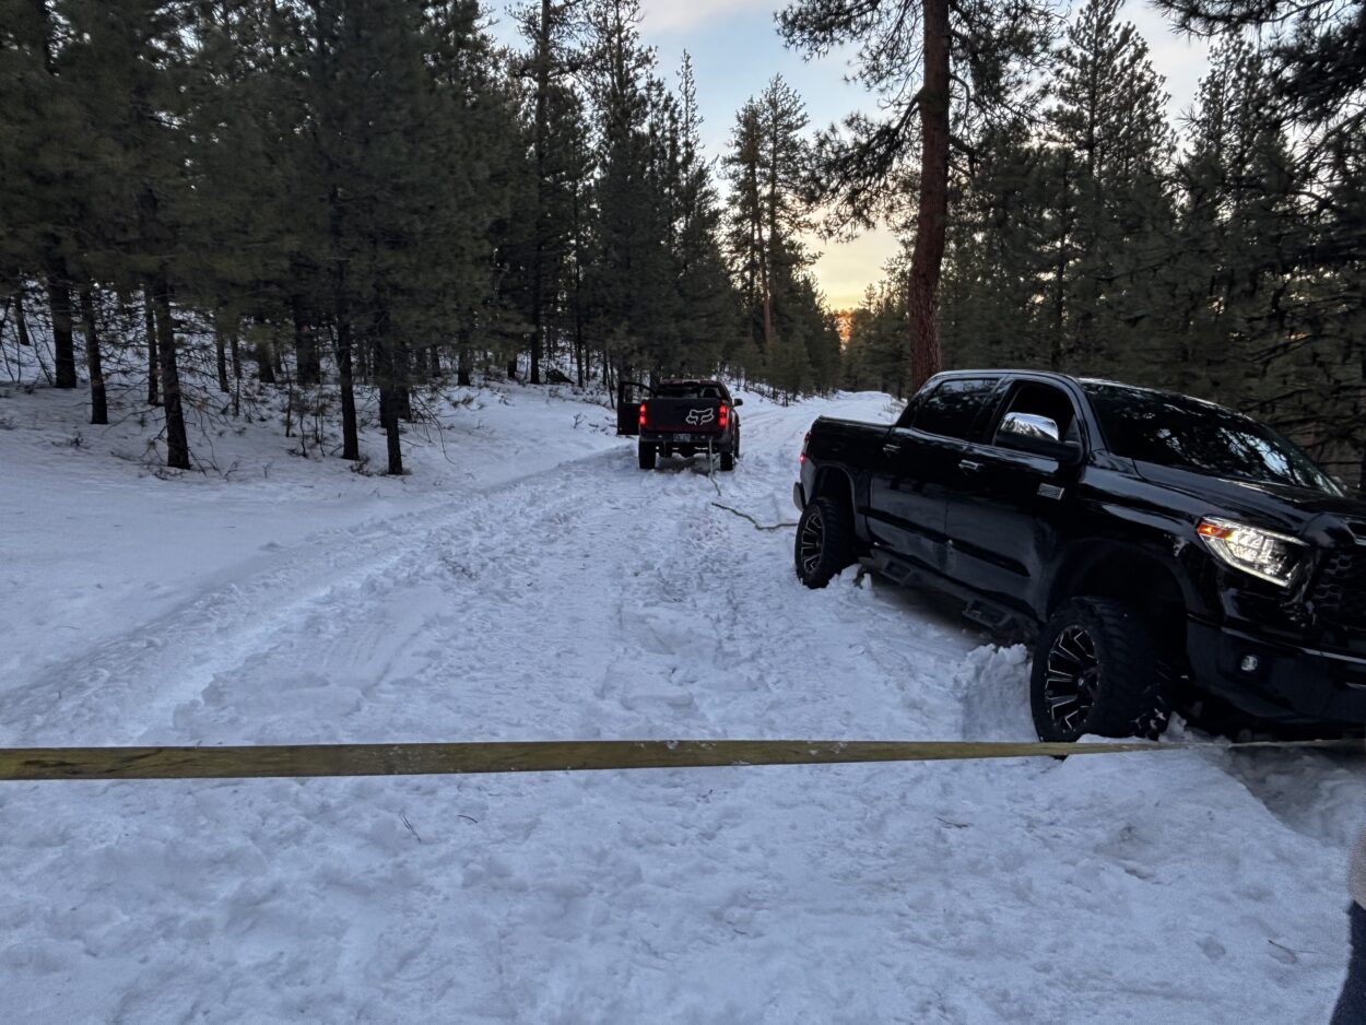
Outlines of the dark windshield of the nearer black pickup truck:
M 1343 491 L 1296 446 L 1255 420 L 1146 388 L 1083 381 L 1111 452 L 1255 484 Z

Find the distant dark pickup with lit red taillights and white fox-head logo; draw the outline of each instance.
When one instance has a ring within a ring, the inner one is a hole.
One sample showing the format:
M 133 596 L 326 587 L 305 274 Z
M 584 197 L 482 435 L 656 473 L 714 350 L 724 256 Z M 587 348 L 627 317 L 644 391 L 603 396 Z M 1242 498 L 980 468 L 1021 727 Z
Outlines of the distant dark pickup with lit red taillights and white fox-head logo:
M 721 381 L 660 381 L 639 403 L 641 469 L 653 470 L 658 456 L 709 452 L 721 456 L 721 469 L 734 470 L 740 454 L 740 418 Z

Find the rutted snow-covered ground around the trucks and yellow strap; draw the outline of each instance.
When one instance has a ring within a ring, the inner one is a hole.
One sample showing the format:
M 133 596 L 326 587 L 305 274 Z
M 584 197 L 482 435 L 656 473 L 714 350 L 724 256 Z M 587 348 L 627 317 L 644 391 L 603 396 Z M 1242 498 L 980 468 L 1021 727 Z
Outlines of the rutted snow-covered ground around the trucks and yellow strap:
M 0 384 L 0 743 L 1031 738 L 1022 649 L 809 592 L 791 529 L 713 504 L 795 519 L 810 420 L 885 396 L 746 394 L 714 477 L 639 472 L 582 398 L 464 398 L 403 480 L 273 421 L 163 480 L 131 399 L 90 428 Z M 53 1024 L 1321 1022 L 1363 817 L 1356 764 L 1299 752 L 0 783 L 0 991 Z

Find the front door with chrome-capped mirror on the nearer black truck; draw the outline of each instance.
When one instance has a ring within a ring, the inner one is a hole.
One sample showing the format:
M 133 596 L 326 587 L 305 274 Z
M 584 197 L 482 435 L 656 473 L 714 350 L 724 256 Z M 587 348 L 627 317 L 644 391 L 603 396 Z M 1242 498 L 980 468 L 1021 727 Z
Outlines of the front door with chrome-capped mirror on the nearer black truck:
M 1067 459 L 1022 451 L 1001 430 L 1012 413 L 1057 440 L 1081 443 L 1071 396 L 1042 381 L 1016 381 L 984 441 L 967 446 L 948 499 L 949 575 L 1004 604 L 1029 610 L 1044 567 L 1071 515 L 1079 469 Z

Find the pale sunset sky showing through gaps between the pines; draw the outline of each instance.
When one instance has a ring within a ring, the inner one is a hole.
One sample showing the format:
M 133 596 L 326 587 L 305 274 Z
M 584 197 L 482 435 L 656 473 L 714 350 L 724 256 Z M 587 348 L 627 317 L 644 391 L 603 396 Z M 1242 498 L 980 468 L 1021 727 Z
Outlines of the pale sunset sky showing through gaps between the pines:
M 641 36 L 653 46 L 664 79 L 676 86 L 684 51 L 697 75 L 702 141 L 720 157 L 740 105 L 757 96 L 773 75 L 781 75 L 806 101 L 810 130 L 837 122 L 855 109 L 874 111 L 874 98 L 844 81 L 847 55 L 803 60 L 783 45 L 775 25 L 776 0 L 642 0 Z M 1176 122 L 1194 100 L 1208 66 L 1206 45 L 1172 33 L 1150 4 L 1128 0 L 1121 18 L 1134 22 L 1147 40 L 1153 67 L 1167 79 L 1168 112 Z M 512 41 L 508 19 L 496 27 Z M 897 242 L 885 230 L 865 232 L 850 242 L 811 239 L 821 256 L 813 268 L 832 309 L 856 306 L 863 290 L 882 279 L 884 264 Z

